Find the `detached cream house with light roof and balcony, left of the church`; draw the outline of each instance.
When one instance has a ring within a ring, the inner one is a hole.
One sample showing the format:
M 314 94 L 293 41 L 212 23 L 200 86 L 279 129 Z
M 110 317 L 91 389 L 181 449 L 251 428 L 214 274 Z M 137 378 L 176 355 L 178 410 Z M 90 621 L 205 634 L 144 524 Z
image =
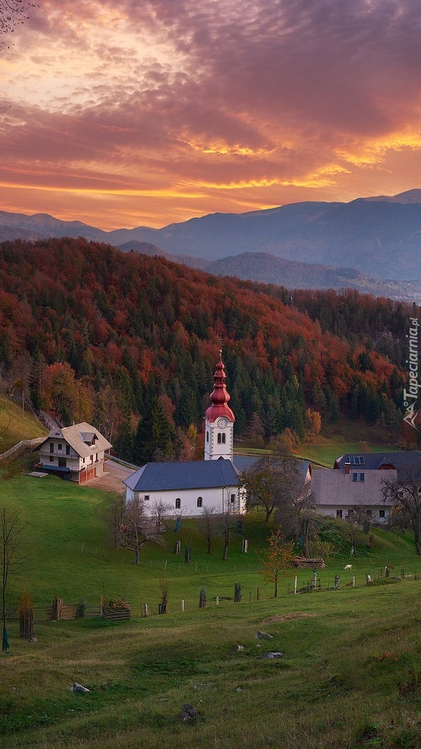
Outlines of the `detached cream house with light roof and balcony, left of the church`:
M 40 446 L 40 470 L 82 484 L 104 472 L 111 443 L 91 424 L 54 428 Z

